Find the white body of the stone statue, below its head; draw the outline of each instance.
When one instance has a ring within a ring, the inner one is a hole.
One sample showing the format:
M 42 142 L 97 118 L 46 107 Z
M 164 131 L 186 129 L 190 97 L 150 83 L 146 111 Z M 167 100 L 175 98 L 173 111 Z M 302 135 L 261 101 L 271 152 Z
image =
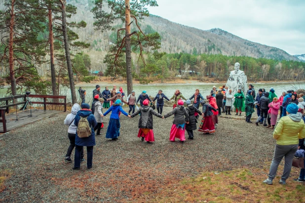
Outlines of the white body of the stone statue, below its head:
M 244 94 L 247 94 L 247 76 L 231 75 L 227 81 L 227 86 L 232 90 L 233 95 L 237 92 L 238 89 L 241 89 Z

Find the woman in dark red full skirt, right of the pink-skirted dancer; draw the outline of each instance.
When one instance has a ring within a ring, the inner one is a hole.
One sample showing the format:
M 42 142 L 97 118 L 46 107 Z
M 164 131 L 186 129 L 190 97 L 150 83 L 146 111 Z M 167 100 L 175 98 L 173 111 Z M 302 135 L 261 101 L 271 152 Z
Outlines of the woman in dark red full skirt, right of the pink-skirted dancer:
M 204 115 L 201 119 L 198 131 L 203 132 L 204 134 L 210 134 L 215 132 L 215 125 L 212 119 L 213 111 L 217 111 L 214 107 L 210 104 L 206 104 L 205 100 L 200 101 L 202 105 L 202 114 Z

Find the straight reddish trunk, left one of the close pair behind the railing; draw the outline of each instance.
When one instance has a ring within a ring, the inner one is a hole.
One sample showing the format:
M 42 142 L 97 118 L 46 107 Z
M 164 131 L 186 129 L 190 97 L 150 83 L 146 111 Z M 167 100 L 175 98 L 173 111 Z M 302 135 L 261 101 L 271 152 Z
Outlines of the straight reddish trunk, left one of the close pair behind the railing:
M 49 8 L 51 8 L 51 2 L 49 3 Z M 50 43 L 50 63 L 51 63 L 51 81 L 52 81 L 52 93 L 57 95 L 56 91 L 56 73 L 54 64 L 54 37 L 53 37 L 53 23 L 52 23 L 52 10 L 48 10 L 49 19 L 49 43 Z M 57 101 L 54 101 L 57 102 Z

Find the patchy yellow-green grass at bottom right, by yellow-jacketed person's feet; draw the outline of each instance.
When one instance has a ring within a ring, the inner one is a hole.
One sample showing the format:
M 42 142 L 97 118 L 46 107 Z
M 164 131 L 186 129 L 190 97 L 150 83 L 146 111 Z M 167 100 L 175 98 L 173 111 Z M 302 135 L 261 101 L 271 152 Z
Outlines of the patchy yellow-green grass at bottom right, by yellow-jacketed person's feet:
M 281 169 L 279 168 L 279 171 Z M 205 172 L 181 181 L 175 191 L 161 191 L 150 202 L 180 203 L 305 203 L 305 185 L 289 179 L 288 184 L 263 184 L 267 168 L 236 169 L 220 173 Z

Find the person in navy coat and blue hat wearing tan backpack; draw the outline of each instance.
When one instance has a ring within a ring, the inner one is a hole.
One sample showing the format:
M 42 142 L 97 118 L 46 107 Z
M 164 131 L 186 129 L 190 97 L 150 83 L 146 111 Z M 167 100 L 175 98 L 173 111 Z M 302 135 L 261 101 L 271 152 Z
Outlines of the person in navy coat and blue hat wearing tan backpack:
M 75 138 L 74 170 L 80 168 L 80 154 L 83 147 L 87 147 L 87 168 L 92 168 L 93 146 L 95 145 L 94 127 L 97 122 L 87 103 L 81 104 L 81 110 L 76 114 L 74 124 L 77 126 Z

